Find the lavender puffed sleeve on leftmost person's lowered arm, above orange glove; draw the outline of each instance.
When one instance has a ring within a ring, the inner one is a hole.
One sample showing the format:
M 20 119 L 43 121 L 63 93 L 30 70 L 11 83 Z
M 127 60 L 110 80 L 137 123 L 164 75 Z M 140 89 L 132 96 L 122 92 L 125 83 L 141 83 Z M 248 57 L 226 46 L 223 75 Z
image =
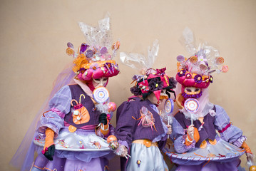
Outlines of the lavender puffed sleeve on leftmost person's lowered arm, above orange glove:
M 63 86 L 49 101 L 50 110 L 41 116 L 41 126 L 38 128 L 37 133 L 44 137 L 46 128 L 51 128 L 54 131 L 56 138 L 58 132 L 64 127 L 64 117 L 69 113 L 71 108 L 71 90 L 69 86 Z

